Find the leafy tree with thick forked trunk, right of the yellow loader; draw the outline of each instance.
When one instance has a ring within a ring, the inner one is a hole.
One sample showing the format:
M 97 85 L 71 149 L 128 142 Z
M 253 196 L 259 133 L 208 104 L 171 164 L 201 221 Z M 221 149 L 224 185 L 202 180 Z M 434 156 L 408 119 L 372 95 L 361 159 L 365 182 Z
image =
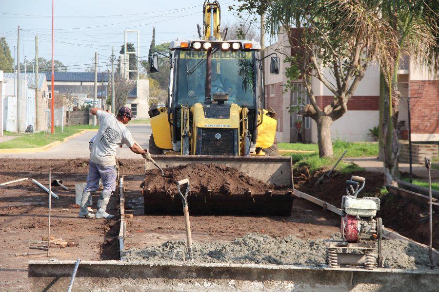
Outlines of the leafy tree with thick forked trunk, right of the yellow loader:
M 366 3 L 367 2 L 367 3 Z M 271 35 L 286 33 L 291 53 L 279 50 L 290 63 L 285 87 L 294 90 L 293 81 L 302 78 L 310 100 L 302 110 L 317 123 L 320 157 L 332 157 L 331 125 L 348 110 L 366 69 L 373 61 L 382 62 L 397 44 L 395 37 L 377 13 L 378 1 L 352 0 L 250 0 L 240 12 L 265 13 Z M 333 94 L 324 108 L 312 88 L 317 78 Z

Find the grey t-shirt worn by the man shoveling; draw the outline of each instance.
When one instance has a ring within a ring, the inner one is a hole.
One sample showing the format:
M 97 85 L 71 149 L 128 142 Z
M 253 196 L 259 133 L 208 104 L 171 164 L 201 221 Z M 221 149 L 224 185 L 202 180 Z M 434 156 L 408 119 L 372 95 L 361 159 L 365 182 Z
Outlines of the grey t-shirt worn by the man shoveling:
M 116 165 L 116 149 L 122 144 L 134 146 L 130 131 L 114 115 L 98 110 L 99 130 L 90 152 L 90 161 L 107 166 Z

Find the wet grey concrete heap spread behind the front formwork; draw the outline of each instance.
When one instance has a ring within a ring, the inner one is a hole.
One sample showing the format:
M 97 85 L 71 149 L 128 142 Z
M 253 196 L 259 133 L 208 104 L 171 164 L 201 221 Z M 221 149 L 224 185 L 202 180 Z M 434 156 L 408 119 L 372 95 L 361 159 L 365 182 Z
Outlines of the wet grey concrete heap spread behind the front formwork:
M 331 238 L 339 238 L 339 234 Z M 170 262 L 174 250 L 186 250 L 185 240 L 167 241 L 161 245 L 122 252 L 126 260 Z M 194 242 L 195 262 L 276 264 L 321 266 L 325 264 L 323 239 L 300 239 L 296 236 L 270 237 L 247 234 L 233 241 Z M 428 255 L 418 246 L 402 240 L 384 240 L 385 268 L 429 269 Z M 181 262 L 181 256 L 176 256 Z

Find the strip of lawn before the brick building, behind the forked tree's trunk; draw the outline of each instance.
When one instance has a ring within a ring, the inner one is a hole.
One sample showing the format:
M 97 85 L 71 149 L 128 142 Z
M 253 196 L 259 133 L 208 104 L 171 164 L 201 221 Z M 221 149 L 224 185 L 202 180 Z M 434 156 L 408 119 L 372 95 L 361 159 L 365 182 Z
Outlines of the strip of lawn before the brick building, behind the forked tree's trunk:
M 279 143 L 279 149 L 283 150 L 305 150 L 315 151 L 319 153 L 317 144 L 303 144 L 303 143 Z M 347 150 L 345 157 L 369 157 L 378 156 L 378 143 L 368 142 L 346 142 L 336 140 L 333 142 L 334 156 L 340 157 L 344 150 Z

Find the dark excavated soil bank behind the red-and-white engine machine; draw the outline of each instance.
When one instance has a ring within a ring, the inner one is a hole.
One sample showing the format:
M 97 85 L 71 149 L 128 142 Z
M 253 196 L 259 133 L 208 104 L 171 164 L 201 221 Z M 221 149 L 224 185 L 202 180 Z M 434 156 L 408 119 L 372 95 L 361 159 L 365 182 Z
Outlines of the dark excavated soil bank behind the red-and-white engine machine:
M 340 207 L 341 197 L 346 195 L 346 180 L 349 180 L 351 175 L 364 177 L 366 178 L 366 184 L 359 193 L 359 198 L 368 196 L 381 199 L 380 211 L 377 216 L 382 218 L 384 226 L 420 243 L 429 243 L 428 219 L 419 221 L 421 219 L 420 215 L 427 213 L 428 208 L 390 194 L 382 196 L 380 194 L 383 185 L 381 173 L 356 171 L 352 174 L 341 174 L 334 172 L 331 181 L 315 186 L 323 173 L 316 172 L 313 177 L 309 177 L 309 172 L 306 172 L 306 170 L 301 171 L 299 174 L 295 173 L 295 187 L 304 193 Z M 439 216 L 437 214 L 433 216 L 433 226 L 439 226 Z M 439 249 L 439 232 L 435 232 L 435 230 L 437 228 L 433 229 L 433 247 Z

